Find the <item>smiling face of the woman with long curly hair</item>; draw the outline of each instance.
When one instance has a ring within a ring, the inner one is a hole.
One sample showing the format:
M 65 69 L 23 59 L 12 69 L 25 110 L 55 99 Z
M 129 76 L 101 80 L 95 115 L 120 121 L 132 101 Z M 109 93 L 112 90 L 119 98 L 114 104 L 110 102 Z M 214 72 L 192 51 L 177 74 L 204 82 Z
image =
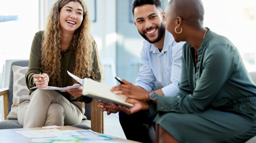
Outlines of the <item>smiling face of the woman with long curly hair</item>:
M 83 20 L 83 8 L 79 2 L 70 1 L 65 4 L 59 14 L 61 32 L 74 33 Z

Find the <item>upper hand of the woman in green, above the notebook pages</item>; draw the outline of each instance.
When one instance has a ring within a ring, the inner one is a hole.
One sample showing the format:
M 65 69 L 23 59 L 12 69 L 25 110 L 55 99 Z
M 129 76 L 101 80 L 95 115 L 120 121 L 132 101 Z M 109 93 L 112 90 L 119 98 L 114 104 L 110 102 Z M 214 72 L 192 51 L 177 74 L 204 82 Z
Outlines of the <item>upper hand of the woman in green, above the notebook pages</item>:
M 119 84 L 117 86 L 112 87 L 111 91 L 121 91 L 117 92 L 116 95 L 125 95 L 128 98 L 133 98 L 137 100 L 146 100 L 149 101 L 149 91 L 146 91 L 140 87 L 133 85 L 132 83 L 122 80 L 124 84 Z

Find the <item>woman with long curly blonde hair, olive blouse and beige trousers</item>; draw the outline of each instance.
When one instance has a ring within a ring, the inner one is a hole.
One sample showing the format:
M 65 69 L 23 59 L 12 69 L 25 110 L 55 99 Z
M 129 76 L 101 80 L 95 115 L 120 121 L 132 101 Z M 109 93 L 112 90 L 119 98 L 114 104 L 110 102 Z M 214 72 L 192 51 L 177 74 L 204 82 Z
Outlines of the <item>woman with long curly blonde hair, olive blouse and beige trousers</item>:
M 58 0 L 50 11 L 46 30 L 34 36 L 26 84 L 28 88 L 38 88 L 30 89 L 30 96 L 20 98 L 20 125 L 24 128 L 75 125 L 84 119 L 82 102 L 90 103 L 92 99 L 81 96 L 82 87 L 63 92 L 40 89 L 78 85 L 67 71 L 79 78 L 101 82 L 97 45 L 82 0 Z

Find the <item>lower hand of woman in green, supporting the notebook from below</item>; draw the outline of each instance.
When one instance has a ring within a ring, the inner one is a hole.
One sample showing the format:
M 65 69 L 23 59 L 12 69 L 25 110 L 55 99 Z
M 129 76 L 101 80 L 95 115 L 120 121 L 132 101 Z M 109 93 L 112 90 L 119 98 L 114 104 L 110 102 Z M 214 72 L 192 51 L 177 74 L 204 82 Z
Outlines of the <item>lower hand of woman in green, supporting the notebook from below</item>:
M 138 112 L 140 110 L 148 110 L 149 109 L 148 102 L 146 102 L 146 101 L 139 101 L 139 100 L 136 100 L 136 99 L 128 98 L 126 100 L 126 102 L 133 104 L 133 107 L 127 108 L 127 107 L 122 106 L 122 105 L 118 105 L 118 107 L 128 115 L 133 114 L 135 112 Z M 116 104 L 113 104 L 113 105 L 117 106 Z

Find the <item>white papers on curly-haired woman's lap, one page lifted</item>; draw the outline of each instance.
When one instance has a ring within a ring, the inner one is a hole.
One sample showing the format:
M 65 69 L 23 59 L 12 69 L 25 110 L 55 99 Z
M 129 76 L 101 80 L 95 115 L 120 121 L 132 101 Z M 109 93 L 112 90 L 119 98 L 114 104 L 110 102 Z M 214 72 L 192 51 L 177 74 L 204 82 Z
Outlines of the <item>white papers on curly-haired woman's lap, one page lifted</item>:
M 68 89 L 73 89 L 73 88 L 79 88 L 79 87 L 81 87 L 82 84 L 83 84 L 84 79 L 78 78 L 77 76 L 71 74 L 69 71 L 67 71 L 67 72 L 68 72 L 68 74 L 69 74 L 73 79 L 75 79 L 76 81 L 78 81 L 81 85 L 68 86 L 68 87 L 53 87 L 53 86 L 47 86 L 46 88 L 40 88 L 40 89 L 42 89 L 42 90 L 58 90 L 58 91 L 63 92 L 63 90 L 68 90 Z M 30 89 L 34 89 L 34 88 L 37 88 L 37 87 L 35 86 L 35 87 L 30 88 Z

